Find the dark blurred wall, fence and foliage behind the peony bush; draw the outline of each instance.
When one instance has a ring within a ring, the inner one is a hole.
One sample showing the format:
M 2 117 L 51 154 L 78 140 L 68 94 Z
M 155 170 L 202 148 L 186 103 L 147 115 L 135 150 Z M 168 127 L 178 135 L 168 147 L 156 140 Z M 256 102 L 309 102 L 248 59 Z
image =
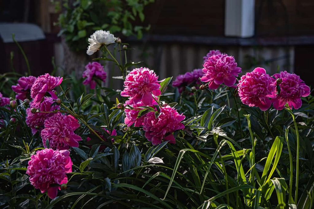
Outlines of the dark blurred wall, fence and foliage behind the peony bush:
M 0 0 L 0 73 L 27 71 L 14 33 L 33 75 L 81 76 L 97 57 L 86 55 L 87 39 L 104 29 L 161 79 L 202 68 L 214 49 L 243 72 L 286 70 L 314 86 L 313 8 L 313 0 Z

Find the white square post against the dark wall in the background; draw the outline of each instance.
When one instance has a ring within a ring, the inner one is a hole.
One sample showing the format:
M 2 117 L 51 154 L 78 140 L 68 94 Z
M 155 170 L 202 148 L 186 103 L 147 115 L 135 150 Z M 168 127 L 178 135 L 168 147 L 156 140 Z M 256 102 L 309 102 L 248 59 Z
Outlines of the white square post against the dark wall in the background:
M 225 0 L 225 36 L 254 35 L 255 0 Z

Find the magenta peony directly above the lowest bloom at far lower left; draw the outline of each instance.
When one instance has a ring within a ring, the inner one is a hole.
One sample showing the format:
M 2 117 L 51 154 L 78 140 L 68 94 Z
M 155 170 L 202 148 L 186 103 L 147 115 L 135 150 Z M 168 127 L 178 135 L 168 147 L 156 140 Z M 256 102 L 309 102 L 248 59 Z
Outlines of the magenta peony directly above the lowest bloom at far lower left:
M 57 112 L 44 123 L 44 129 L 41 131 L 41 138 L 44 147 L 46 140 L 52 149 L 69 149 L 69 147 L 78 147 L 78 141 L 82 138 L 74 133 L 78 129 L 78 120 L 72 115 L 62 115 Z

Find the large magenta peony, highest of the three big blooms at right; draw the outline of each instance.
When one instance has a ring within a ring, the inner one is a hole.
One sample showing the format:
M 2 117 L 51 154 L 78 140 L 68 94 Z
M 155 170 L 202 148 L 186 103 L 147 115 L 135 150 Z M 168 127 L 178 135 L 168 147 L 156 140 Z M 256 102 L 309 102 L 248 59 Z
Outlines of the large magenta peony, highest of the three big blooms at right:
M 220 84 L 233 86 L 236 83 L 236 77 L 241 73 L 241 68 L 233 56 L 227 54 L 213 55 L 204 63 L 203 77 L 201 81 L 209 82 L 210 89 L 217 89 Z

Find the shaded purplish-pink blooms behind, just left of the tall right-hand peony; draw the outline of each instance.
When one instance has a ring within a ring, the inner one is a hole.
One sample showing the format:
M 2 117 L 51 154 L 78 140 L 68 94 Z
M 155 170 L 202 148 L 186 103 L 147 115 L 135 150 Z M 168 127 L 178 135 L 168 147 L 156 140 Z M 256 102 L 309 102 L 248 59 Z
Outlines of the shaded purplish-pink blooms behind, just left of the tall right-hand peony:
M 186 72 L 183 75 L 176 77 L 176 80 L 172 82 L 173 87 L 177 87 L 179 93 L 185 90 L 185 87 L 190 84 L 201 84 L 199 78 L 203 76 L 202 69 L 195 69 L 192 72 Z M 198 87 L 198 86 L 197 86 Z

